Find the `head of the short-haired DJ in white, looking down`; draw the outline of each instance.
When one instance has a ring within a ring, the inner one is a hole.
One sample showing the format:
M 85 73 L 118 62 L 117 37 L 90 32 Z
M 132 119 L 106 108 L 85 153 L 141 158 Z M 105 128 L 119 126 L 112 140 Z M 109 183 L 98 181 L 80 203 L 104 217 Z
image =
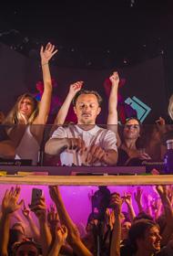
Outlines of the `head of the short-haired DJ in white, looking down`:
M 95 94 L 80 94 L 76 100 L 74 111 L 78 124 L 95 124 L 101 111 Z

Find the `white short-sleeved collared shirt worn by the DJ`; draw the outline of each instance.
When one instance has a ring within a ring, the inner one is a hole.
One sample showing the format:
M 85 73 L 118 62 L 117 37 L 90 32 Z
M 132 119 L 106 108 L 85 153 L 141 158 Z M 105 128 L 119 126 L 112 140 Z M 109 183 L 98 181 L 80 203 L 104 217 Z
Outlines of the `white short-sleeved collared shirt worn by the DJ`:
M 95 144 L 105 151 L 113 149 L 117 151 L 116 133 L 103 129 L 95 125 L 91 130 L 85 131 L 78 125 L 68 125 L 67 127 L 58 127 L 53 133 L 52 138 L 80 138 L 86 144 L 86 152 L 80 155 L 76 150 L 66 149 L 60 154 L 62 165 L 86 165 L 86 155 L 90 147 Z M 96 162 L 94 165 L 105 165 Z

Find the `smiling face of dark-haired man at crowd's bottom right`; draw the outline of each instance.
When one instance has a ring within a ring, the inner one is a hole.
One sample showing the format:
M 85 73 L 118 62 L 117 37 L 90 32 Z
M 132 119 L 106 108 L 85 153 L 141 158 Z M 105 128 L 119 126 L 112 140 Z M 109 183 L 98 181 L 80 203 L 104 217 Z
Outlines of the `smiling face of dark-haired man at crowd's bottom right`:
M 137 248 L 151 253 L 160 251 L 160 240 L 159 229 L 153 226 L 146 230 L 144 239 L 137 240 Z

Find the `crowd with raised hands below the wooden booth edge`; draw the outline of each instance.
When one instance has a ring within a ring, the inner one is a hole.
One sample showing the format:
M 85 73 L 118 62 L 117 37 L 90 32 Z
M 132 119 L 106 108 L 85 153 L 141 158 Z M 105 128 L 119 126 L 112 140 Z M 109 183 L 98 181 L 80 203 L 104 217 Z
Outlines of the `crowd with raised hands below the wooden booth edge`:
M 153 196 L 142 187 L 137 187 L 134 195 L 98 187 L 90 197 L 92 212 L 83 232 L 72 220 L 72 212 L 67 212 L 61 189 L 48 188 L 49 206 L 39 194 L 32 195 L 28 207 L 20 196 L 21 187 L 6 189 L 0 211 L 2 256 L 173 255 L 172 186 L 153 187 Z M 127 211 L 122 210 L 123 204 Z

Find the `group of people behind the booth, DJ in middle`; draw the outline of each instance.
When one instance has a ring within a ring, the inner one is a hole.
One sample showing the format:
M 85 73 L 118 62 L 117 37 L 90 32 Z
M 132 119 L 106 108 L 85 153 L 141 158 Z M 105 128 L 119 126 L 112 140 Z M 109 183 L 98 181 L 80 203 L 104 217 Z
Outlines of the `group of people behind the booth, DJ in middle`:
M 0 157 L 30 159 L 32 165 L 37 165 L 42 150 L 47 155 L 45 158 L 55 156 L 56 164 L 61 165 L 140 165 L 142 160 L 163 160 L 166 147 L 162 145 L 162 137 L 168 132 L 163 118 L 159 117 L 147 137 L 143 136 L 141 144 L 142 127 L 137 116 L 128 118 L 122 127 L 118 125 L 117 91 L 120 79 L 117 71 L 109 77 L 111 88 L 107 127 L 97 125 L 102 103 L 98 92 L 86 91 L 84 81 L 76 81 L 70 85 L 66 100 L 57 112 L 49 137 L 45 140 L 52 96 L 49 60 L 56 52 L 51 43 L 40 49 L 44 80 L 41 101 L 25 93 L 15 102 L 11 112 L 6 116 L 1 113 Z M 66 123 L 71 103 L 76 123 Z M 173 98 L 170 97 L 168 113 L 171 118 L 172 106 Z

